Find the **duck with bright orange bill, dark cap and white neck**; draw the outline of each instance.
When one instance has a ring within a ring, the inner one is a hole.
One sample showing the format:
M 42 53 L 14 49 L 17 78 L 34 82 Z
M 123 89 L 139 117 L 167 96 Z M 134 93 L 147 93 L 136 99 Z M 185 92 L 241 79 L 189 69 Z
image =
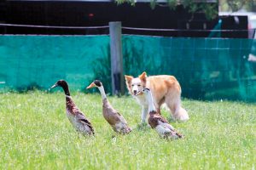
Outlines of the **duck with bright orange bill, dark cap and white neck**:
M 108 102 L 102 82 L 95 80 L 90 83 L 87 89 L 88 88 L 98 88 L 102 94 L 102 114 L 105 120 L 113 128 L 113 131 L 120 134 L 131 133 L 131 127 L 128 126 L 124 116 L 122 116 L 119 111 L 113 109 L 113 106 Z

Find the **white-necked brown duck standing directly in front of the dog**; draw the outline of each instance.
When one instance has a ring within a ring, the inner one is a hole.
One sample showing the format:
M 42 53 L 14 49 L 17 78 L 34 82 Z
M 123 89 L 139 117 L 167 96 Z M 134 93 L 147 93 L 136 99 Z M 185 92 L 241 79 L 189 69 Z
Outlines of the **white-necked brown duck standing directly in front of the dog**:
M 148 124 L 151 128 L 154 128 L 160 137 L 164 139 L 181 139 L 183 134 L 178 133 L 174 127 L 158 113 L 154 107 L 154 100 L 149 88 L 143 88 L 140 92 L 145 94 L 148 100 Z M 138 95 L 138 94 L 137 94 Z

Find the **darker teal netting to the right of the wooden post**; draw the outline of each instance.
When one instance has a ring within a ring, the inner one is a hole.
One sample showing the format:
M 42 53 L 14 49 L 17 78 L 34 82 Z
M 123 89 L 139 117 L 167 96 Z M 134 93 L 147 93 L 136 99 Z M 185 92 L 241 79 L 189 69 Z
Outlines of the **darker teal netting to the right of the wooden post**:
M 256 101 L 256 62 L 248 61 L 254 42 L 125 36 L 125 74 L 173 75 L 188 98 Z

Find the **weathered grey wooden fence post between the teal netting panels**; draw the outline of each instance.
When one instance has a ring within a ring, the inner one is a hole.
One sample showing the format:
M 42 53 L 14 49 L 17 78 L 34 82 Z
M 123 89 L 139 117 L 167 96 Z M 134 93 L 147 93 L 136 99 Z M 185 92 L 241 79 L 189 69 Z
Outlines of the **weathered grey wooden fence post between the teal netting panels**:
M 125 94 L 121 22 L 109 22 L 112 94 Z

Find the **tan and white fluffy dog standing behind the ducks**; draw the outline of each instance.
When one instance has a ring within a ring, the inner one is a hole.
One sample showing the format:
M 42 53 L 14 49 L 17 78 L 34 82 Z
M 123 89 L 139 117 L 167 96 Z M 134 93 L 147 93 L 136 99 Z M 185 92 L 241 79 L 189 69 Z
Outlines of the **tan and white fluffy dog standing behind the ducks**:
M 160 113 L 160 106 L 166 103 L 175 120 L 183 122 L 189 120 L 188 112 L 181 107 L 181 88 L 175 77 L 168 75 L 147 77 L 147 73 L 144 71 L 136 78 L 125 75 L 125 80 L 129 93 L 143 106 L 142 122 L 146 122 L 148 102 L 143 93 L 136 94 L 143 91 L 143 88 L 151 90 L 154 106 L 158 113 Z

